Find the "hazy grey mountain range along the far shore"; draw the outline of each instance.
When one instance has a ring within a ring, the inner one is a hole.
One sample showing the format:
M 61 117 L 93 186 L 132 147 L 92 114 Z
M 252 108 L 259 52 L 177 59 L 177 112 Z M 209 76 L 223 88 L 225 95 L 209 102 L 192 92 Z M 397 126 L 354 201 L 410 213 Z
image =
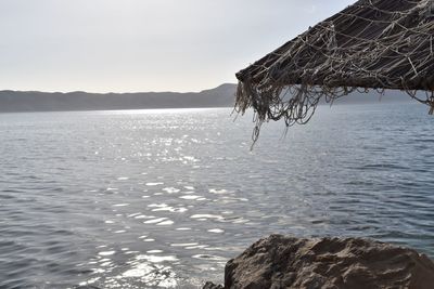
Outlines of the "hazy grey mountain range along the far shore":
M 215 89 L 201 92 L 138 92 L 138 93 L 87 93 L 81 91 L 38 92 L 38 91 L 0 91 L 0 113 L 14 111 L 56 111 L 56 110 L 108 110 L 144 108 L 194 108 L 194 107 L 232 107 L 237 84 L 225 83 Z M 400 91 L 386 91 L 380 95 L 352 93 L 334 102 L 340 104 L 412 102 Z

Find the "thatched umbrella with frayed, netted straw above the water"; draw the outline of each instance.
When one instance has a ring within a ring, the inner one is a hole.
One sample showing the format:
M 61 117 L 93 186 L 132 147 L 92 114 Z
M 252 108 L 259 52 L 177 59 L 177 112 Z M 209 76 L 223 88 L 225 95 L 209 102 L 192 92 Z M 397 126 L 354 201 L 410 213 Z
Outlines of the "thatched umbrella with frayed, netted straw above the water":
M 235 109 L 254 108 L 254 141 L 264 121 L 306 123 L 355 90 L 403 90 L 432 114 L 433 36 L 434 0 L 357 1 L 239 71 Z

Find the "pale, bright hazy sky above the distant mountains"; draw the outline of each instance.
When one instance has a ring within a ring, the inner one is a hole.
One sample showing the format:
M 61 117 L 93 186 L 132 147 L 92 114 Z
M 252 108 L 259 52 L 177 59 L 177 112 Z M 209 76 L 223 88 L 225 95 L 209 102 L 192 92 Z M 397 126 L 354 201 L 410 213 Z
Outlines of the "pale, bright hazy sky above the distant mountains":
M 201 91 L 355 0 L 0 0 L 0 90 Z

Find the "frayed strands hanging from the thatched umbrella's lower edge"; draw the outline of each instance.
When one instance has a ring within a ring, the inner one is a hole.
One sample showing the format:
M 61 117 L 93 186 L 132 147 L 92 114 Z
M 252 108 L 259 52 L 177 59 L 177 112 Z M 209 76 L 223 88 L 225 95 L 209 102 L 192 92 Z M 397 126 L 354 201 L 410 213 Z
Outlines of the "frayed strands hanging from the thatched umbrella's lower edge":
M 374 90 L 381 97 L 385 89 L 370 88 L 330 88 L 319 86 L 276 86 L 269 89 L 258 89 L 248 79 L 239 81 L 235 92 L 234 111 L 244 115 L 253 108 L 252 148 L 259 139 L 260 128 L 264 122 L 283 119 L 286 129 L 294 124 L 306 124 L 314 116 L 319 102 L 322 100 L 332 105 L 333 102 L 352 92 L 368 93 Z M 429 114 L 434 113 L 434 91 L 425 91 L 426 98 L 417 96 L 418 90 L 404 90 L 411 98 L 430 107 Z

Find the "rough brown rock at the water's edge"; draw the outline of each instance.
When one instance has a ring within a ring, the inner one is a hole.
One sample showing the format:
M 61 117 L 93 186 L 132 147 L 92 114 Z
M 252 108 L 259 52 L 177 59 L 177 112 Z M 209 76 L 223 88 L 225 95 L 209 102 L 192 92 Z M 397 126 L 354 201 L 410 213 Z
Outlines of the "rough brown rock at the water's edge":
M 373 240 L 271 235 L 227 263 L 224 288 L 434 289 L 434 263 Z

